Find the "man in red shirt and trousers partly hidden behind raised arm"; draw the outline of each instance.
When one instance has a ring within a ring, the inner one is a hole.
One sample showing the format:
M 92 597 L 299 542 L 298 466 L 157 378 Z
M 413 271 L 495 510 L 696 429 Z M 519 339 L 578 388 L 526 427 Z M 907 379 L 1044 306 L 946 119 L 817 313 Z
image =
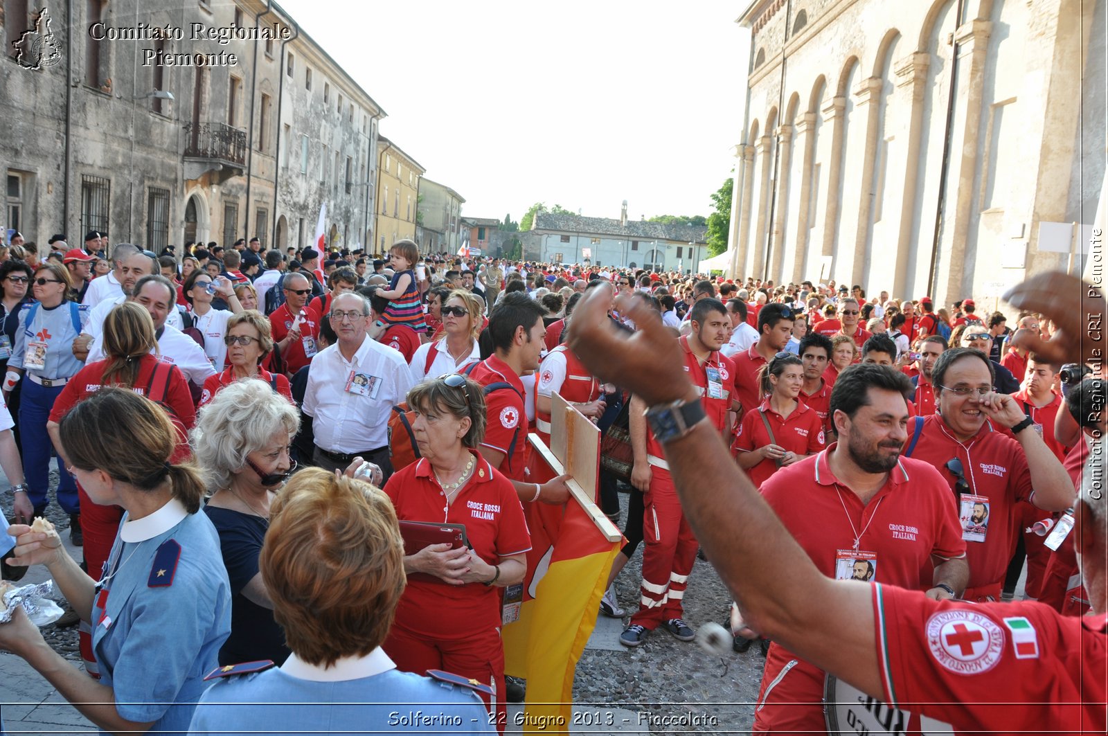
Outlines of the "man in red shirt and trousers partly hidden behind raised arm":
M 770 307 L 779 306 L 781 305 L 768 305 L 762 310 L 763 318 L 769 319 L 765 313 Z M 735 408 L 737 374 L 731 359 L 720 354 L 719 348 L 727 343 L 730 317 L 721 301 L 705 297 L 698 299 L 689 310 L 689 324 L 693 328 L 690 334 L 678 338 L 685 370 L 701 396 L 712 427 L 721 436 L 728 436 L 731 429 L 729 411 Z M 790 330 L 792 327 L 792 321 L 786 318 L 774 324 L 786 325 Z M 784 339 L 788 340 L 788 333 Z M 665 625 L 669 633 L 683 642 L 691 642 L 696 636 L 681 617 L 681 600 L 696 561 L 697 541 L 681 513 L 674 480 L 663 459 L 661 446 L 643 420 L 644 406 L 638 397 L 632 397 L 629 416 L 634 451 L 633 477 L 646 474 L 649 487 L 644 499 L 646 510 L 643 541 L 646 546 L 643 550 L 642 597 L 638 611 L 630 619 L 630 625 L 619 635 L 619 643 L 624 646 L 638 646 L 659 625 Z

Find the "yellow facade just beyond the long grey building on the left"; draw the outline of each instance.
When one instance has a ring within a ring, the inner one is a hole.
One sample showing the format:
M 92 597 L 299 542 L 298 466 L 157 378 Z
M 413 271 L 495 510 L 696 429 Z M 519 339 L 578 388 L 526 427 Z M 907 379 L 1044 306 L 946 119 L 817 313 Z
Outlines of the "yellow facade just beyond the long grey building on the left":
M 425 170 L 396 143 L 377 139 L 377 243 L 370 251 L 388 253 L 397 241 L 416 239 L 419 185 Z

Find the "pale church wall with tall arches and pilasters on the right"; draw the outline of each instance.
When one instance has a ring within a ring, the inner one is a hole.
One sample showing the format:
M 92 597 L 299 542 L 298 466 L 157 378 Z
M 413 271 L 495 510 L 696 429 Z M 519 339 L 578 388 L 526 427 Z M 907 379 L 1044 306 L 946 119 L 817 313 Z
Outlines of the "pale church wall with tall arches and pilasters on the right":
M 948 303 L 1067 267 L 1040 233 L 1095 214 L 1105 4 L 751 2 L 731 273 Z

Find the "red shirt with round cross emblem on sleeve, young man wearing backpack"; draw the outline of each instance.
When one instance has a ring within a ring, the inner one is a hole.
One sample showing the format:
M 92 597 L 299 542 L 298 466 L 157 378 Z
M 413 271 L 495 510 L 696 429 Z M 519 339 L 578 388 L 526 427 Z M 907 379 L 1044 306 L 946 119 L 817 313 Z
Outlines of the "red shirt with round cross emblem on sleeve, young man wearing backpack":
M 473 367 L 470 378 L 489 386 L 505 381 L 512 389 L 497 389 L 485 396 L 485 437 L 482 446 L 504 453 L 500 463 L 502 473 L 514 480 L 526 480 L 524 468 L 527 454 L 527 412 L 523 403 L 524 388 L 512 368 L 497 358 L 489 356 Z M 512 440 L 515 447 L 512 448 Z M 509 454 L 509 449 L 512 449 Z

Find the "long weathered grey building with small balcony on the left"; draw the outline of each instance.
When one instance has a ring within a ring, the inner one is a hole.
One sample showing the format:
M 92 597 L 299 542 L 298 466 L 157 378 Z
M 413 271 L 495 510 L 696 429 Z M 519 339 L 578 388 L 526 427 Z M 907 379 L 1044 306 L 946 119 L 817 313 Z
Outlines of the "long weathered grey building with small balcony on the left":
M 384 113 L 278 4 L 30 4 L 0 18 L 6 227 L 284 247 L 326 201 L 330 242 L 370 238 Z

